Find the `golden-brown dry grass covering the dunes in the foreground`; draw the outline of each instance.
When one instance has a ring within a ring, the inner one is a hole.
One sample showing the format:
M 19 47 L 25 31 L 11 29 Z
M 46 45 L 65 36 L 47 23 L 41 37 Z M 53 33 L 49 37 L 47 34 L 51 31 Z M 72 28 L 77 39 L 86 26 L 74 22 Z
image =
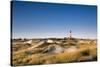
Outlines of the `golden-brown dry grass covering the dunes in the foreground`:
M 87 42 L 79 42 L 72 40 L 70 43 L 57 44 L 68 49 L 71 46 L 76 46 L 77 50 L 72 52 L 63 51 L 60 53 L 43 53 L 48 46 L 37 47 L 27 50 L 32 47 L 31 44 L 12 44 L 12 65 L 40 65 L 40 64 L 56 64 L 56 63 L 72 63 L 83 61 L 96 61 L 97 60 L 97 46 L 96 40 L 89 40 Z M 47 44 L 46 44 L 47 45 Z M 49 44 L 52 45 L 52 44 Z

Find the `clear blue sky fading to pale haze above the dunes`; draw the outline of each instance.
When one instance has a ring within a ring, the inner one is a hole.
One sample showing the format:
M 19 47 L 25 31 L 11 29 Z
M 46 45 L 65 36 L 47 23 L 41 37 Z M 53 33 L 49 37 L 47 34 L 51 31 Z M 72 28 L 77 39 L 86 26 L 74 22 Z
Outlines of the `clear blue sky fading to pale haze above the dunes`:
M 13 38 L 97 38 L 97 7 L 14 1 Z

